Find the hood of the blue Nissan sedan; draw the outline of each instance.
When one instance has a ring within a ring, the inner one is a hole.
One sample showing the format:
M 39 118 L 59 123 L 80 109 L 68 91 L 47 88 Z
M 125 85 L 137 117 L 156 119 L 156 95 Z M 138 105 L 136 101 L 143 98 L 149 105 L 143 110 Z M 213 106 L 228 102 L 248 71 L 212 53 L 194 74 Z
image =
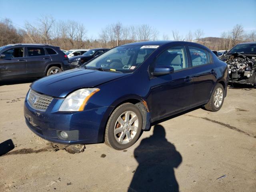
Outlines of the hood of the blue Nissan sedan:
M 30 88 L 42 94 L 64 98 L 74 90 L 96 87 L 127 75 L 129 74 L 75 68 L 36 80 Z

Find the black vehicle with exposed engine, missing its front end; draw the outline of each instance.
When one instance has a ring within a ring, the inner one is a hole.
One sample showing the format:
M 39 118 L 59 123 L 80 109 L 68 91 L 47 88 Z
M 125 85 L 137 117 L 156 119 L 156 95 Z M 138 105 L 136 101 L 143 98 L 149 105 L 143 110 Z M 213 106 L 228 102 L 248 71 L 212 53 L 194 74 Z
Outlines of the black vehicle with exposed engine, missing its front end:
M 237 44 L 219 59 L 228 64 L 229 82 L 256 85 L 256 42 Z

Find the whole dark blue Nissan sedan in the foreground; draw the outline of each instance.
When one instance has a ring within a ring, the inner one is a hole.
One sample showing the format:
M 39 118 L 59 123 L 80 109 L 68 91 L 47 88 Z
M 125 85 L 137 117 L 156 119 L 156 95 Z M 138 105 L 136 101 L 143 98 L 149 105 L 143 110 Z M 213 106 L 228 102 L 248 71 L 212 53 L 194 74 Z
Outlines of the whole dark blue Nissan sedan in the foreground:
M 205 46 L 136 42 L 35 81 L 24 116 L 35 134 L 51 142 L 104 141 L 123 150 L 152 122 L 197 106 L 220 110 L 227 84 L 227 64 Z

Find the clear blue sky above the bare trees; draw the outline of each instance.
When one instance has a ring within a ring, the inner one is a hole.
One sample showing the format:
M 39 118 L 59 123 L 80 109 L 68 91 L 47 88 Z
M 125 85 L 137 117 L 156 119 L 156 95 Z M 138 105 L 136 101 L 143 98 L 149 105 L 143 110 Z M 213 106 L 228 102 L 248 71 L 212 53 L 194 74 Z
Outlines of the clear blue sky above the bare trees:
M 172 37 L 172 30 L 185 36 L 189 30 L 204 30 L 204 36 L 218 37 L 234 25 L 256 30 L 256 0 L 0 0 L 0 19 L 10 18 L 24 26 L 41 15 L 56 20 L 76 20 L 84 24 L 87 37 L 98 38 L 101 28 L 121 22 L 148 24 Z

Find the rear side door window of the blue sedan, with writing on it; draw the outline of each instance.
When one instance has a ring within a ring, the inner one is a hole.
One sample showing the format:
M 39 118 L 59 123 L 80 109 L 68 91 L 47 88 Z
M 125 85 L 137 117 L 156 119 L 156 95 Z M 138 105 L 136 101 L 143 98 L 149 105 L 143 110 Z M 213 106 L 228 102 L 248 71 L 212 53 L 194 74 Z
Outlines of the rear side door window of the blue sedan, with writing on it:
M 206 50 L 192 46 L 188 46 L 188 48 L 193 67 L 210 63 L 209 53 Z

